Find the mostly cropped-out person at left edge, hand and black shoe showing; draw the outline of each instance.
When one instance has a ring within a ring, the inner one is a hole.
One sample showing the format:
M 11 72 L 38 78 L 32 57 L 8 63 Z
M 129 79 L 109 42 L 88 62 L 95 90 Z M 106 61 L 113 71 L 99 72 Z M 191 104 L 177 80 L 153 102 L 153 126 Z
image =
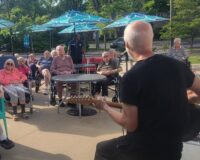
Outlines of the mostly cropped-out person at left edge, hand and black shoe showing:
M 3 95 L 4 95 L 3 89 L 0 88 L 0 98 L 2 98 Z M 0 146 L 5 149 L 11 149 L 15 146 L 14 142 L 8 139 L 8 137 L 6 137 L 6 135 L 3 133 L 3 128 L 1 124 L 0 124 Z M 1 159 L 1 156 L 0 156 L 0 159 Z

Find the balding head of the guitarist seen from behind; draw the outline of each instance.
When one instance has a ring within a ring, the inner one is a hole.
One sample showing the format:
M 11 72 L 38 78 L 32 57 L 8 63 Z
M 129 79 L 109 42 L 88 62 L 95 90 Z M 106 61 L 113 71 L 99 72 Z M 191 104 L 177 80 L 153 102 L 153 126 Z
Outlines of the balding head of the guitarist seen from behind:
M 149 23 L 135 21 L 124 31 L 124 41 L 127 51 L 137 54 L 152 52 L 153 30 Z

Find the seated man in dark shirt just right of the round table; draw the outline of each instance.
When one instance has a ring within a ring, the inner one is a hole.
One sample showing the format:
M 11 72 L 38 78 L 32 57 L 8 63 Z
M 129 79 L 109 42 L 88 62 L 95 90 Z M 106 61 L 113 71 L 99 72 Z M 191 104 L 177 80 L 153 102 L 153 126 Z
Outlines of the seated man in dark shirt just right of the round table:
M 102 53 L 103 62 L 98 65 L 97 73 L 106 76 L 106 80 L 97 82 L 95 94 L 99 94 L 102 88 L 102 96 L 108 96 L 108 85 L 118 76 L 118 63 L 110 56 L 110 52 Z

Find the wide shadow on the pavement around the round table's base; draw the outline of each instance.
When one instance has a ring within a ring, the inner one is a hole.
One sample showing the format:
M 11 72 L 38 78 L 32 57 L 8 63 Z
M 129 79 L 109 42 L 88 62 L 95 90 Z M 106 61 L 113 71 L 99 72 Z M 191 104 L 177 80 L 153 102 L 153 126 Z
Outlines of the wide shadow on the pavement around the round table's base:
M 80 118 L 68 115 L 66 112 L 69 108 L 64 107 L 60 109 L 58 114 L 55 106 L 48 106 L 47 96 L 41 94 L 35 95 L 33 104 L 35 105 L 33 115 L 30 115 L 28 120 L 20 121 L 34 125 L 44 132 L 96 137 L 121 131 L 121 127 L 115 124 L 104 112 Z M 16 125 L 20 127 L 20 124 L 16 123 Z

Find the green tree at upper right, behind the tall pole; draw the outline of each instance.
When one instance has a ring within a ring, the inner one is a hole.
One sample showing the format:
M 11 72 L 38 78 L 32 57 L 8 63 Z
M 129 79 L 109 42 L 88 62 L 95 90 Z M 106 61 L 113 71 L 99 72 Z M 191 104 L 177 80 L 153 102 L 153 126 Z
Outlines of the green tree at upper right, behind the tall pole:
M 200 1 L 199 0 L 174 0 L 174 16 L 172 28 L 170 23 L 163 27 L 161 37 L 163 39 L 175 37 L 190 38 L 191 47 L 196 37 L 200 36 Z

